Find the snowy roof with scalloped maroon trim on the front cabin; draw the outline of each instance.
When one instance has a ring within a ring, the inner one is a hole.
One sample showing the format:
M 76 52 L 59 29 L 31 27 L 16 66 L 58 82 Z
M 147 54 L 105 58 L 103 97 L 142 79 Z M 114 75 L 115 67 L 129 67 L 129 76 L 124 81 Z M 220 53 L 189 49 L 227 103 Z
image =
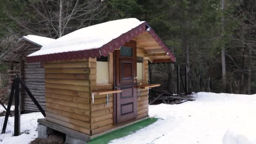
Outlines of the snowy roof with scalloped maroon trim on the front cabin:
M 71 32 L 63 37 L 43 45 L 35 53 L 27 56 L 28 62 L 53 61 L 63 59 L 95 58 L 113 53 L 115 48 L 120 48 L 135 36 L 146 31 L 165 49 L 173 62 L 175 57 L 155 34 L 147 22 L 135 18 L 120 19 L 96 24 L 90 27 Z

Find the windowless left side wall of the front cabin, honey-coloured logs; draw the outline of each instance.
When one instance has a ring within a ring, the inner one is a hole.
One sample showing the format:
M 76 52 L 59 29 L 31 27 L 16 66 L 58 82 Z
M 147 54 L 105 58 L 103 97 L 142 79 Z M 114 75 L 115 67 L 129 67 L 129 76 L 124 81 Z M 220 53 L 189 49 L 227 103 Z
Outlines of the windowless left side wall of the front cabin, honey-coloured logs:
M 46 120 L 90 135 L 88 67 L 88 59 L 46 62 L 45 105 Z

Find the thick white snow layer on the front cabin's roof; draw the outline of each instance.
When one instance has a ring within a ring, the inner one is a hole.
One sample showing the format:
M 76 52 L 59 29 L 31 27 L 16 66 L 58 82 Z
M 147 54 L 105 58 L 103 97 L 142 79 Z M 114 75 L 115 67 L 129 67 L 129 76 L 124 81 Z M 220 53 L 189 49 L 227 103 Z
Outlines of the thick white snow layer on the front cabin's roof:
M 135 18 L 120 19 L 96 24 L 79 29 L 63 37 L 43 45 L 43 47 L 29 56 L 40 56 L 52 53 L 63 53 L 69 51 L 82 51 L 100 48 L 120 35 L 138 27 L 144 21 Z

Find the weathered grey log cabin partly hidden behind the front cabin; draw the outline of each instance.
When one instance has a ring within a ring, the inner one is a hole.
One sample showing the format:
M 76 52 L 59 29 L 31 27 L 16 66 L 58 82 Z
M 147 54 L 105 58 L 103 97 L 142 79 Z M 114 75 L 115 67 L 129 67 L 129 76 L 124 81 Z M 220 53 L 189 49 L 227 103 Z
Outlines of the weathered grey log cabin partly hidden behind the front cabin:
M 27 63 L 25 57 L 39 51 L 40 48 L 54 41 L 52 38 L 37 35 L 27 35 L 19 39 L 8 53 L 1 53 L 0 59 L 10 64 L 8 70 L 10 82 L 14 75 L 19 74 L 33 93 L 39 104 L 45 109 L 45 71 L 40 62 Z M 27 93 L 21 91 L 21 112 L 39 112 Z

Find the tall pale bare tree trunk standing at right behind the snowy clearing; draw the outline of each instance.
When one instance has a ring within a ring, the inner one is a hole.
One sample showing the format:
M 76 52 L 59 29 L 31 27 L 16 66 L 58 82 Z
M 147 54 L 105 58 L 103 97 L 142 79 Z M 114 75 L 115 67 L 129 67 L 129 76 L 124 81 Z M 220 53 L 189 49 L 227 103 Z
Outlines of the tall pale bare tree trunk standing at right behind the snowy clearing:
M 221 0 L 221 10 L 224 11 L 224 0 Z M 221 25 L 221 37 L 224 35 L 224 18 L 222 18 Z M 227 92 L 227 72 L 226 72 L 226 54 L 225 54 L 225 46 L 221 48 L 221 64 L 222 64 L 222 85 L 223 91 Z

